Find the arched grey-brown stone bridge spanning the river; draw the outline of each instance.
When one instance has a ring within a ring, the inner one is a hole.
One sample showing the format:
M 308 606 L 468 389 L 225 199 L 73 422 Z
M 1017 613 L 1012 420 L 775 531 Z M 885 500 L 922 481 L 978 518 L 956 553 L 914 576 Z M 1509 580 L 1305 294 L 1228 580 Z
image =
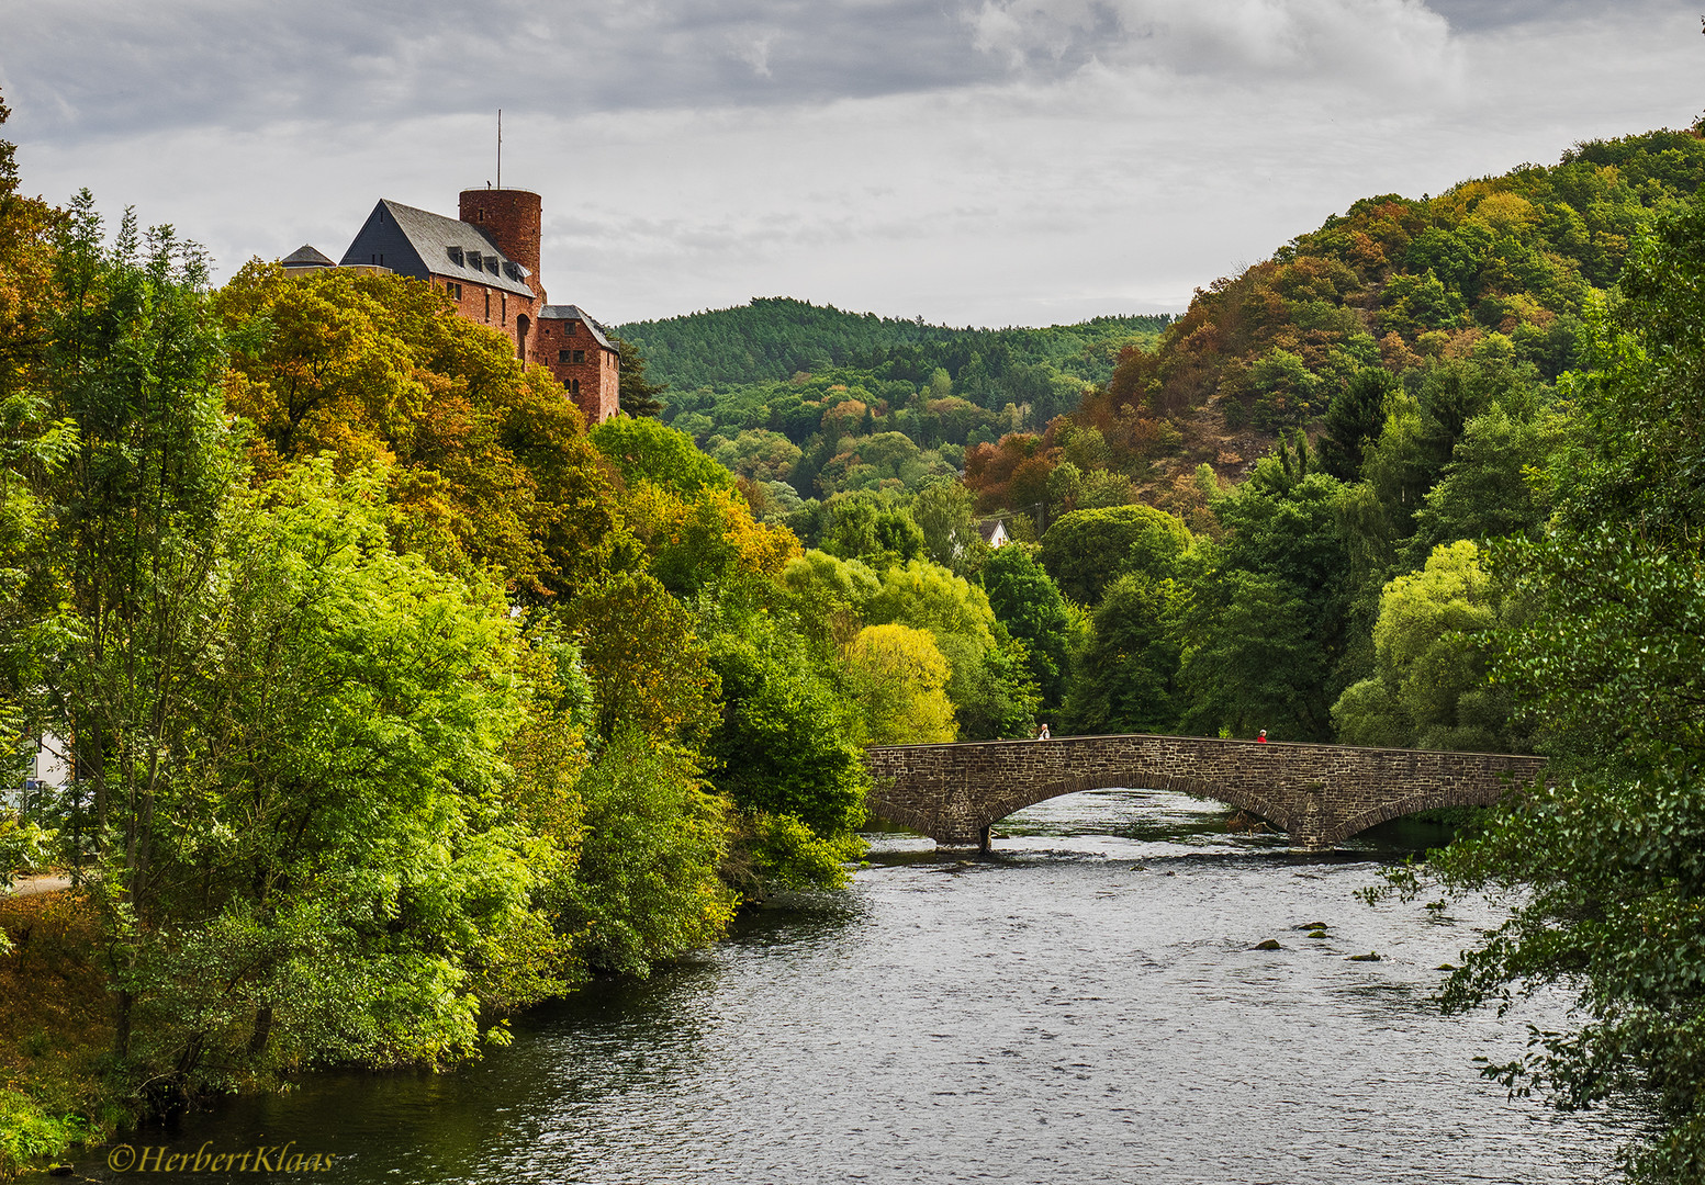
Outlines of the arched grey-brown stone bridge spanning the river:
M 866 764 L 871 813 L 948 847 L 987 847 L 1013 812 L 1105 786 L 1214 798 L 1325 847 L 1388 818 L 1488 806 L 1545 771 L 1543 757 L 1512 754 L 1147 735 L 887 745 Z

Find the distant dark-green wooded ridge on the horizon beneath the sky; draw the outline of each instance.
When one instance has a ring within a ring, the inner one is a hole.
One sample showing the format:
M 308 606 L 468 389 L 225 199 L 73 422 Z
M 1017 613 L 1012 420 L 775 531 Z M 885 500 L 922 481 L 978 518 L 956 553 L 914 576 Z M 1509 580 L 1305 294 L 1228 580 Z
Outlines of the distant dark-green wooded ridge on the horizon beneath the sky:
M 1124 346 L 1132 339 L 1153 344 L 1170 322 L 1170 314 L 1159 314 L 1045 329 L 953 329 L 921 317 L 900 321 L 755 297 L 738 309 L 617 326 L 616 334 L 639 348 L 648 377 L 675 390 L 786 380 L 830 367 L 921 384 L 936 368 L 958 377 L 974 360 L 991 375 L 1047 363 L 1059 373 L 1107 382 Z

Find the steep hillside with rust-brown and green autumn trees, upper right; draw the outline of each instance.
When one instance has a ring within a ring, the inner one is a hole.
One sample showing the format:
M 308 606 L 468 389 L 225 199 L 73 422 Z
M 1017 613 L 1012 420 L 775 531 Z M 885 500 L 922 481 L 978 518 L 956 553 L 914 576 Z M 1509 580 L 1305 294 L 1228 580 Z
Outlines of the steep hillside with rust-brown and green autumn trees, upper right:
M 1132 351 L 1084 401 L 1078 426 L 1105 433 L 1132 474 L 1156 460 L 1246 465 L 1361 372 L 1412 396 L 1449 375 L 1552 380 L 1577 363 L 1586 305 L 1616 283 L 1633 239 L 1702 182 L 1695 126 L 1587 142 L 1437 196 L 1364 198 L 1199 292 L 1158 350 Z

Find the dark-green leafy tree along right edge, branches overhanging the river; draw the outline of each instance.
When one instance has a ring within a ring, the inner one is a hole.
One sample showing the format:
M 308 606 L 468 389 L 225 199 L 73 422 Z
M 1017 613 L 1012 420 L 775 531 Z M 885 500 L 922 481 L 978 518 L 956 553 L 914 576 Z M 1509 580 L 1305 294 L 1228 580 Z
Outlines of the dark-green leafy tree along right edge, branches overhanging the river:
M 1630 1168 L 1649 1182 L 1705 1168 L 1702 244 L 1695 199 L 1632 252 L 1623 303 L 1598 317 L 1596 373 L 1569 389 L 1581 428 L 1553 465 L 1553 525 L 1499 549 L 1536 604 L 1494 677 L 1534 713 L 1550 779 L 1427 866 L 1458 890 L 1521 887 L 1448 980 L 1448 1006 L 1523 984 L 1577 991 L 1574 1023 L 1485 1072 L 1565 1108 L 1640 1090 L 1656 1124 Z M 1413 871 L 1398 883 L 1425 890 Z

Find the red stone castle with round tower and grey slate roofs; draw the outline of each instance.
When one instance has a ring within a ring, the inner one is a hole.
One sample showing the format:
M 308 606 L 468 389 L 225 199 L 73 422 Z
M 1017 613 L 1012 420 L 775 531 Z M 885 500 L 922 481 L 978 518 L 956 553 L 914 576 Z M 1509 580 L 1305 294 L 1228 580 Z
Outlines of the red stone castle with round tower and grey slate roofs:
M 614 416 L 621 373 L 616 346 L 576 305 L 546 302 L 539 278 L 539 194 L 464 189 L 459 213 L 447 218 L 380 199 L 336 264 L 314 247 L 280 263 L 286 271 L 336 266 L 425 280 L 460 315 L 505 332 L 517 358 L 556 375 L 588 425 Z

